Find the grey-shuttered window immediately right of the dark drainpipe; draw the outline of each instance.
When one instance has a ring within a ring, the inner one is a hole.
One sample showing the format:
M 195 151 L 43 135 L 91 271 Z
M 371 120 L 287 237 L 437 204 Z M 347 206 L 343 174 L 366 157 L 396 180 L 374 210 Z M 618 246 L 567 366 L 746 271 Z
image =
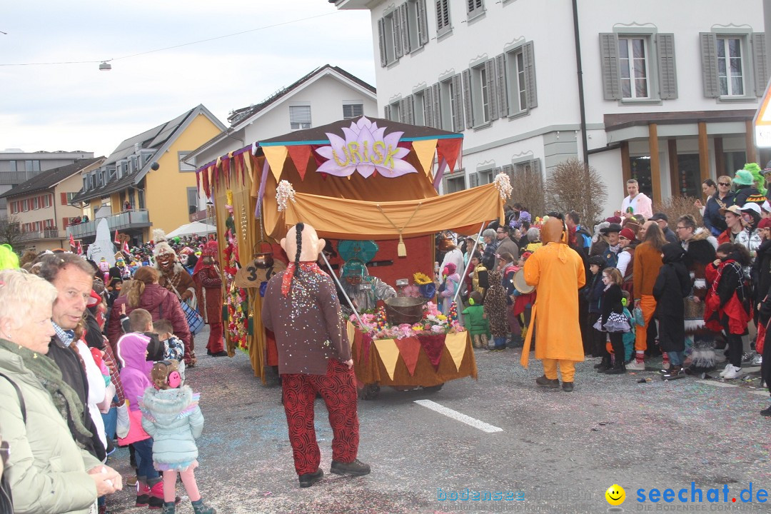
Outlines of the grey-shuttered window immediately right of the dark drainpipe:
M 600 34 L 603 97 L 622 103 L 675 99 L 675 35 L 655 29 Z

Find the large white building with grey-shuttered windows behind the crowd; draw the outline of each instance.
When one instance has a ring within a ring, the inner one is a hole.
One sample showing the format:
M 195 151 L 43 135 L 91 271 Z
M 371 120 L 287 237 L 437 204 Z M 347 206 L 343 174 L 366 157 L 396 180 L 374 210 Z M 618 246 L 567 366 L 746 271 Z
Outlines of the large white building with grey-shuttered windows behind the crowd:
M 762 0 L 336 5 L 372 13 L 379 112 L 463 133 L 442 192 L 588 157 L 610 215 L 628 178 L 656 202 L 769 159 L 751 129 L 769 78 Z

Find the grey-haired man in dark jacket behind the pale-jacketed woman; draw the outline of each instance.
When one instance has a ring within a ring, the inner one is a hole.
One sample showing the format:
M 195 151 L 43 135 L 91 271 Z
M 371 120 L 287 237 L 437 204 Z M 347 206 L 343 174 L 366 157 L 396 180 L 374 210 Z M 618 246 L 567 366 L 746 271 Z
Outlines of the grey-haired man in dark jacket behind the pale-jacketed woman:
M 38 258 L 33 272 L 45 278 L 56 287 L 59 295 L 53 304 L 51 321 L 56 335 L 49 344 L 48 358 L 51 358 L 62 371 L 62 379 L 76 391 L 83 408 L 83 425 L 91 432 L 86 438 L 75 428 L 71 419 L 67 420 L 72 437 L 81 443 L 96 459 L 104 462 L 106 452 L 96 432 L 96 425 L 89 414 L 89 384 L 79 354 L 72 343 L 75 328 L 86 311 L 86 303 L 91 297 L 93 287 L 93 268 L 76 254 L 44 254 Z

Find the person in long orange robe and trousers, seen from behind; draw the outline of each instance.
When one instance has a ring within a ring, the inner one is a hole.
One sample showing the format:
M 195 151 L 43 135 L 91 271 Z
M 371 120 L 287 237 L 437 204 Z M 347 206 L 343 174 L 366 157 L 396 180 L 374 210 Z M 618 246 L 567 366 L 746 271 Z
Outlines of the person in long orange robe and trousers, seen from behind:
M 544 362 L 544 376 L 536 384 L 573 391 L 575 363 L 584 360 L 581 327 L 578 324 L 578 290 L 586 283 L 584 263 L 567 246 L 567 227 L 550 217 L 540 230 L 540 247 L 525 261 L 525 282 L 536 287 L 537 297 L 530 318 L 521 364 L 527 368 L 530 342 L 535 328 L 535 358 Z

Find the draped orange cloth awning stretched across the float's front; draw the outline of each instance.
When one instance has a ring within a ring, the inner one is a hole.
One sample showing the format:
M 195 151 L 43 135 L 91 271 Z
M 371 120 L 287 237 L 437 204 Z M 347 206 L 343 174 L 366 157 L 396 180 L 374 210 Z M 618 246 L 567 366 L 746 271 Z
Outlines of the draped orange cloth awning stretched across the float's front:
M 296 223 L 308 223 L 319 236 L 335 239 L 385 240 L 416 237 L 440 230 L 479 232 L 484 221 L 503 219 L 503 200 L 494 184 L 441 197 L 396 202 L 348 200 L 295 193 L 283 213 L 265 210 L 265 226 L 280 239 Z M 398 227 L 398 228 L 397 228 Z

